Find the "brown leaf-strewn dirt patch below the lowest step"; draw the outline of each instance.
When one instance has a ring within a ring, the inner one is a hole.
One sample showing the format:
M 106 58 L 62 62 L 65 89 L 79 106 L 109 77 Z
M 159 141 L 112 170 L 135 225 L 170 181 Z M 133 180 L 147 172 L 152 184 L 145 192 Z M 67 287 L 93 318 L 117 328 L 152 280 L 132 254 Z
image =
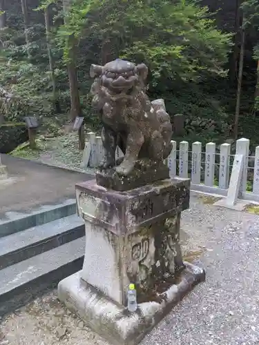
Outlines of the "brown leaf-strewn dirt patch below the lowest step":
M 54 290 L 1 324 L 1 345 L 108 345 L 57 300 Z

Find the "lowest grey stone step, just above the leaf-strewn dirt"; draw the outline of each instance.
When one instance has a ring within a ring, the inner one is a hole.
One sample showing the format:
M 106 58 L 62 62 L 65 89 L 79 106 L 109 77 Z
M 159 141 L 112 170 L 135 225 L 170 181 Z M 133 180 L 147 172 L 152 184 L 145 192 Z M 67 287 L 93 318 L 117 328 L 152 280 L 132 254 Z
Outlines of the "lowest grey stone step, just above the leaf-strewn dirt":
M 84 247 L 85 238 L 80 237 L 0 270 L 0 317 L 81 270 Z

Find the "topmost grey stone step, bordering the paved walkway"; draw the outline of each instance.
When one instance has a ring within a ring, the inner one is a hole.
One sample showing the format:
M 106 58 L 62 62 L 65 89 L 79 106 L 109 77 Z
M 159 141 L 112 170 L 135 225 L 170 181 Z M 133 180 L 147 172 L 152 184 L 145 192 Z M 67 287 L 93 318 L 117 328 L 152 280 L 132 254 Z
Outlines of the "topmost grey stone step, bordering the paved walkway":
M 67 199 L 61 204 L 44 205 L 30 213 L 8 212 L 0 217 L 0 237 L 46 224 L 77 212 L 75 199 Z

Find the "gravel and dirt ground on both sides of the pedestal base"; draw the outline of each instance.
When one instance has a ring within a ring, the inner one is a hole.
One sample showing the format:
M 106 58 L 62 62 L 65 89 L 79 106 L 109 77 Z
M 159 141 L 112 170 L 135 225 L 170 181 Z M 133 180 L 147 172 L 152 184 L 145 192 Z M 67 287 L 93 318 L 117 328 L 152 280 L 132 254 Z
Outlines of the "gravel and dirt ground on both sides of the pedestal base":
M 217 208 L 193 194 L 182 248 L 207 271 L 142 345 L 259 344 L 259 217 Z M 3 320 L 1 345 L 108 345 L 48 293 Z

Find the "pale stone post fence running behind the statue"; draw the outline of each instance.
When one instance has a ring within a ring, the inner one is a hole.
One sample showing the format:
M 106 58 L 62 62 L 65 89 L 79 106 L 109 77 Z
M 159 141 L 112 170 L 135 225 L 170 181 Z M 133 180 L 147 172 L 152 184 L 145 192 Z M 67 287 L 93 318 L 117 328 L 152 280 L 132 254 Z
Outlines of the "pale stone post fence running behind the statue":
M 191 178 L 192 190 L 226 197 L 231 172 L 237 164 L 235 157 L 243 156 L 238 197 L 259 202 L 259 146 L 256 147 L 255 154 L 249 156 L 249 139 L 238 139 L 235 152 L 231 152 L 231 144 L 227 143 L 220 146 L 208 143 L 205 151 L 202 151 L 199 141 L 192 144 L 187 141 L 181 141 L 179 144 L 172 141 L 172 144 L 173 149 L 167 159 L 170 177 Z M 123 157 L 119 148 L 116 155 L 117 158 Z M 95 168 L 102 162 L 103 157 L 102 138 L 96 137 L 93 132 L 88 133 L 82 166 Z M 235 180 L 232 184 L 235 184 Z

